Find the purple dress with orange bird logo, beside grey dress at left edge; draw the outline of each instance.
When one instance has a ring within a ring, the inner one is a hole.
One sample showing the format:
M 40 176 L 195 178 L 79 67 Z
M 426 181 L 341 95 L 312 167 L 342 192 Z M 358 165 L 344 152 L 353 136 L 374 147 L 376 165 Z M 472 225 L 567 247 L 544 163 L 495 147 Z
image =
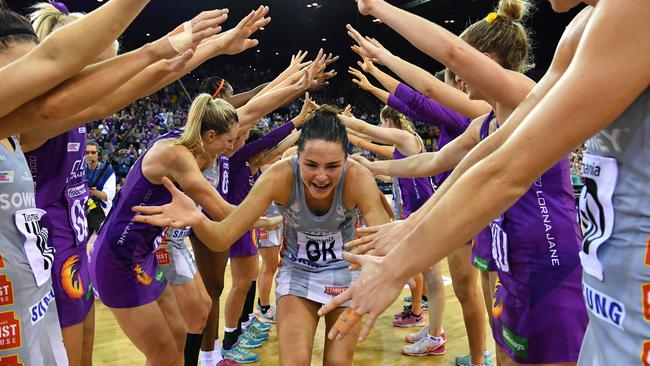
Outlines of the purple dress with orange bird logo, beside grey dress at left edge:
M 34 178 L 36 207 L 47 212 L 41 222 L 55 249 L 52 285 L 62 327 L 82 322 L 94 300 L 86 253 L 89 190 L 85 153 L 85 127 L 53 137 L 25 153 Z

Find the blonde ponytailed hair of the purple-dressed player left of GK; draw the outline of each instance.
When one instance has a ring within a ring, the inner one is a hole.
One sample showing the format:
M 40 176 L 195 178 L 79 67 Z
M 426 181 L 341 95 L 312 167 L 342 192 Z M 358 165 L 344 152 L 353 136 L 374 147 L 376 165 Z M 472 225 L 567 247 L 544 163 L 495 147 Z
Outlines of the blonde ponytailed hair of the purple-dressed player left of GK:
M 238 123 L 237 110 L 230 103 L 212 99 L 210 94 L 199 94 L 192 101 L 185 130 L 176 144 L 185 146 L 194 155 L 210 159 L 203 146 L 202 134 L 212 130 L 217 135 L 224 135 Z

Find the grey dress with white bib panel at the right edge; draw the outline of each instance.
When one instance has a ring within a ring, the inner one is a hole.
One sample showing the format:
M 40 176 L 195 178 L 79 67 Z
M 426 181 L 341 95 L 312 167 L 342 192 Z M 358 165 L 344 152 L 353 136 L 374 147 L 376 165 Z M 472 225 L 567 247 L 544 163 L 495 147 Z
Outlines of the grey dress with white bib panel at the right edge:
M 650 365 L 650 89 L 587 143 L 580 365 Z

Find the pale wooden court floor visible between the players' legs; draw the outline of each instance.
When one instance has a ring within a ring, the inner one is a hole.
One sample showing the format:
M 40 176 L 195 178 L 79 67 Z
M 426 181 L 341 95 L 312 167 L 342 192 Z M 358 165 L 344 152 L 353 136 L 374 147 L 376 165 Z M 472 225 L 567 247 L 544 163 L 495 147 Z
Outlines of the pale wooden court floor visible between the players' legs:
M 443 263 L 443 273 L 448 276 L 447 264 Z M 230 288 L 230 268 L 226 269 L 227 294 Z M 419 328 L 395 328 L 392 325 L 393 314 L 401 311 L 402 303 L 396 301 L 388 311 L 378 320 L 370 337 L 357 345 L 354 356 L 355 365 L 452 365 L 454 357 L 468 353 L 467 335 L 463 323 L 460 304 L 456 300 L 452 287 L 446 281 L 446 309 L 444 316 L 444 329 L 447 333 L 447 353 L 443 356 L 407 357 L 401 354 L 401 347 L 405 344 L 403 339 L 406 334 Z M 409 294 L 408 289 L 402 291 L 401 297 Z M 400 299 L 401 299 L 400 297 Z M 226 296 L 221 298 L 223 309 Z M 97 323 L 95 332 L 95 347 L 93 361 L 95 365 L 144 365 L 144 356 L 131 344 L 124 335 L 110 310 L 101 303 L 96 302 Z M 223 311 L 222 311 L 223 314 Z M 222 318 L 223 319 L 223 318 Z M 487 323 L 487 319 L 486 319 Z M 489 327 L 487 327 L 489 331 Z M 223 322 L 219 334 L 223 335 Z M 254 350 L 261 355 L 261 359 L 255 365 L 277 365 L 278 360 L 278 339 L 275 327 L 271 330 L 271 337 L 265 342 L 262 348 Z M 322 352 L 325 337 L 324 321 L 319 325 L 314 341 L 312 354 L 312 365 L 322 364 Z M 494 354 L 494 341 L 490 334 L 487 335 L 488 349 Z M 194 365 L 192 365 L 194 366 Z

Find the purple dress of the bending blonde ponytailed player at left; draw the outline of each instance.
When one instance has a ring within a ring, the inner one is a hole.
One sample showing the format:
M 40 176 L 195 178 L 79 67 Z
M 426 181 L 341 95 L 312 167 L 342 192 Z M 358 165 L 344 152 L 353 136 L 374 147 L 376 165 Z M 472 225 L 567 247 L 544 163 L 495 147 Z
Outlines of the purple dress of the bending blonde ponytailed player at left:
M 178 137 L 172 131 L 158 137 Z M 152 143 L 153 144 L 153 143 Z M 142 173 L 143 154 L 133 164 L 113 208 L 102 225 L 90 253 L 90 277 L 102 302 L 112 308 L 130 308 L 156 300 L 167 286 L 156 259 L 156 238 L 162 229 L 135 222 L 133 206 L 160 206 L 171 202 L 163 186 Z

